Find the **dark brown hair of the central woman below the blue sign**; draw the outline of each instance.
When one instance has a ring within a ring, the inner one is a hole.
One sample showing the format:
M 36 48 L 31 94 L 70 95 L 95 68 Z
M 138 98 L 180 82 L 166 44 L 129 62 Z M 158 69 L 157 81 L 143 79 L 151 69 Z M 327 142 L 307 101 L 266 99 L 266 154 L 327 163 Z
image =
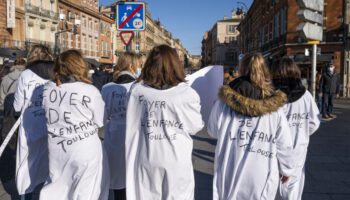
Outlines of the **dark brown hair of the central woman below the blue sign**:
M 185 71 L 176 51 L 168 45 L 154 47 L 145 62 L 139 80 L 157 89 L 185 82 Z

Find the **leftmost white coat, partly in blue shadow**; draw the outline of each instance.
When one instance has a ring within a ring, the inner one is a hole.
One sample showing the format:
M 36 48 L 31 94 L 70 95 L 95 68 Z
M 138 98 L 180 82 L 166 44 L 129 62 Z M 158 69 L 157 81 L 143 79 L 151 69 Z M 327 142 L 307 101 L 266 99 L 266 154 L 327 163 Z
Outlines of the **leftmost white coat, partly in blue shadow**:
M 16 184 L 20 195 L 31 193 L 48 176 L 47 129 L 41 99 L 33 91 L 45 84 L 31 70 L 22 72 L 18 79 L 14 109 L 21 111 L 16 152 Z

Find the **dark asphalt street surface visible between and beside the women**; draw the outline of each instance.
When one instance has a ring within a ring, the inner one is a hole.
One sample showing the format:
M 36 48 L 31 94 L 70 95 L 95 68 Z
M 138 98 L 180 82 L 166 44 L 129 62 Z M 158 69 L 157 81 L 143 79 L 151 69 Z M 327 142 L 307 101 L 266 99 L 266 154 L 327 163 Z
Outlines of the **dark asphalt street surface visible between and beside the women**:
M 350 100 L 335 107 L 337 118 L 311 136 L 303 200 L 350 200 Z M 216 141 L 205 132 L 193 139 L 196 200 L 211 200 Z M 10 200 L 1 184 L 0 200 Z

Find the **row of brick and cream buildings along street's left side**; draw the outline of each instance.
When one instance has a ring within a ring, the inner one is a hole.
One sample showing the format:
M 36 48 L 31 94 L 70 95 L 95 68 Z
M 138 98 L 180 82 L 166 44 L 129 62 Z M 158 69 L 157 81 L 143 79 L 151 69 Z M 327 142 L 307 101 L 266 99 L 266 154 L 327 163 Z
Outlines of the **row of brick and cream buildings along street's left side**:
M 88 59 L 114 64 L 122 52 L 147 55 L 155 45 L 168 44 L 183 61 L 192 59 L 181 41 L 173 38 L 159 20 L 152 19 L 149 9 L 146 30 L 135 32 L 132 43 L 125 46 L 115 23 L 117 3 L 99 6 L 98 0 L 2 0 L 0 4 L 0 48 L 5 53 L 41 43 L 59 52 L 80 49 Z M 78 31 L 63 32 L 55 38 L 56 33 L 71 30 L 74 25 Z

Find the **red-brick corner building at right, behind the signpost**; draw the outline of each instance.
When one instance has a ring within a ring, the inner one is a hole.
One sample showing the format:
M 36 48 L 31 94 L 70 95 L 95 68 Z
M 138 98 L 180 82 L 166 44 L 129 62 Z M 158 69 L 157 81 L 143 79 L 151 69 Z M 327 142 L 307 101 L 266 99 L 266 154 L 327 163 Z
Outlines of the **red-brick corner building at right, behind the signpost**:
M 342 74 L 344 82 L 344 2 L 324 1 L 324 36 L 318 45 L 318 70 L 327 63 L 334 63 Z M 305 56 L 305 49 L 312 49 L 297 32 L 302 22 L 297 16 L 300 10 L 297 0 L 254 0 L 239 25 L 239 47 L 243 53 L 261 52 L 268 63 L 278 61 L 283 56 L 293 58 L 302 70 L 302 76 L 311 79 L 311 55 Z

